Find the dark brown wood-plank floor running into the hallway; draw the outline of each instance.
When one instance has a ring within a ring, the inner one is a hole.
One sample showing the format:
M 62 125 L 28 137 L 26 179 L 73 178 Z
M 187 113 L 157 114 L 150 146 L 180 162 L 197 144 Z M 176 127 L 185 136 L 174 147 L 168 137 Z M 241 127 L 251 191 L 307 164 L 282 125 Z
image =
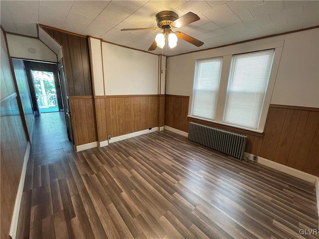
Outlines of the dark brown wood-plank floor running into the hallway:
M 310 183 L 169 131 L 75 153 L 61 113 L 35 120 L 18 239 L 294 239 L 300 229 L 318 229 Z

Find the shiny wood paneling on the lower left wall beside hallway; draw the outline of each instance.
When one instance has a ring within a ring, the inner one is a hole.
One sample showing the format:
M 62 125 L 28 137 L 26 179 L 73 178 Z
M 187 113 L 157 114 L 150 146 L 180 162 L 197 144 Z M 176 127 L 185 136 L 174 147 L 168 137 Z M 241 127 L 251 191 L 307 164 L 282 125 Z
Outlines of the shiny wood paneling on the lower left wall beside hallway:
M 8 238 L 16 194 L 19 187 L 27 138 L 23 128 L 17 94 L 1 99 L 1 236 Z

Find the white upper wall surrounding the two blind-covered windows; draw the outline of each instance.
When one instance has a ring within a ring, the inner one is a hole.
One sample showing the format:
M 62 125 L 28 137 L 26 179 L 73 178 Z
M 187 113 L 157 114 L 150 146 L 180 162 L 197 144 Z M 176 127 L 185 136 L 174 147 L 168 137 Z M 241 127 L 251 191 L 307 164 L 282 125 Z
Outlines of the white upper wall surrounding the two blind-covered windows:
M 271 104 L 319 108 L 319 29 L 167 58 L 166 94 L 192 95 L 195 62 L 282 44 L 283 52 Z M 267 49 L 267 48 L 265 48 Z

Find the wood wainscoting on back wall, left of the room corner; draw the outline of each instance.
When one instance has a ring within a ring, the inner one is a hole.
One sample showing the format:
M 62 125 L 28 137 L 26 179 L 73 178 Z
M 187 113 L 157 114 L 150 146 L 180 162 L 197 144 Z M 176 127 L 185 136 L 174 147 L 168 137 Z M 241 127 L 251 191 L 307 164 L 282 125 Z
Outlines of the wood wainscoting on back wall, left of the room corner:
M 158 95 L 95 96 L 99 142 L 159 126 Z M 162 100 L 163 101 L 163 100 Z

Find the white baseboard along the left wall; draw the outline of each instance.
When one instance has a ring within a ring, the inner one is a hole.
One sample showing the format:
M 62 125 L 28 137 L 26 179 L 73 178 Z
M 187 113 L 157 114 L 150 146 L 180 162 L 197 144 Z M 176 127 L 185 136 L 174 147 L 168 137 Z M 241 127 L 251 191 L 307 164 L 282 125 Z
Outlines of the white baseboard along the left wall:
M 20 205 L 21 205 L 21 199 L 22 199 L 22 192 L 23 192 L 25 174 L 26 174 L 26 165 L 27 165 L 28 160 L 29 160 L 29 154 L 30 154 L 30 142 L 28 142 L 26 145 L 19 187 L 18 187 L 18 191 L 17 191 L 16 197 L 15 197 L 15 204 L 14 204 L 11 227 L 10 227 L 10 232 L 9 232 L 9 235 L 11 236 L 12 239 L 15 239 L 15 237 L 16 237 L 16 230 L 18 227 L 18 219 L 19 219 Z

